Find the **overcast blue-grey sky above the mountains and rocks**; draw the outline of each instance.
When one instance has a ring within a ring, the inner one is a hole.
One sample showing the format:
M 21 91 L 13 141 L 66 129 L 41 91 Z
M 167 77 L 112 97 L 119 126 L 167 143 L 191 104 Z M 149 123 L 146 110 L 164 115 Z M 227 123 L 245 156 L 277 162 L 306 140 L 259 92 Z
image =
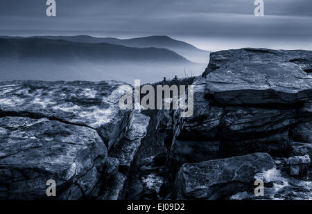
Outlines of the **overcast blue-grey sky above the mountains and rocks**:
M 312 49 L 311 0 L 0 0 L 0 35 L 169 35 L 215 51 L 240 46 Z M 225 42 L 226 41 L 226 42 Z

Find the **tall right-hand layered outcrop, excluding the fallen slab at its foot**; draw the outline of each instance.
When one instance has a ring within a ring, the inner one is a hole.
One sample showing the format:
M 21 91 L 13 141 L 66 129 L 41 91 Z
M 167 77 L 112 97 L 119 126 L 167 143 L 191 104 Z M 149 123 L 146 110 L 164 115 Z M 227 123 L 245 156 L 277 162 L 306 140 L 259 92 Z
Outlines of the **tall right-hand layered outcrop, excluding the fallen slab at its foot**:
M 174 190 L 181 184 L 177 180 L 186 163 L 254 152 L 284 157 L 283 173 L 309 177 L 309 145 L 293 141 L 310 141 L 312 76 L 307 71 L 311 56 L 311 51 L 253 48 L 211 53 L 204 78 L 193 82 L 193 116 L 180 118 L 175 111 L 173 127 L 166 129 L 173 130 L 168 186 Z M 293 163 L 288 158 L 301 162 Z M 188 198 L 181 194 L 178 198 Z M 192 194 L 190 190 L 190 198 L 197 198 Z M 219 197 L 223 193 L 211 196 Z M 209 198 L 209 194 L 203 198 Z

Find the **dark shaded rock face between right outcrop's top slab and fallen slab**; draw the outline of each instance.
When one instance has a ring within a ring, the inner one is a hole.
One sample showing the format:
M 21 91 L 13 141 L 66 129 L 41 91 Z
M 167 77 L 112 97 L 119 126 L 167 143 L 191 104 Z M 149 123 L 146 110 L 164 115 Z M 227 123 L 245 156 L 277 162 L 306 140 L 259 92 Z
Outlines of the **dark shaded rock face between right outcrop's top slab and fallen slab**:
M 168 156 L 173 172 L 182 163 L 254 152 L 280 155 L 290 149 L 288 128 L 312 119 L 309 102 L 293 108 L 220 106 L 204 98 L 205 78 L 193 86 L 193 116 L 180 118 L 178 111 L 173 116 Z

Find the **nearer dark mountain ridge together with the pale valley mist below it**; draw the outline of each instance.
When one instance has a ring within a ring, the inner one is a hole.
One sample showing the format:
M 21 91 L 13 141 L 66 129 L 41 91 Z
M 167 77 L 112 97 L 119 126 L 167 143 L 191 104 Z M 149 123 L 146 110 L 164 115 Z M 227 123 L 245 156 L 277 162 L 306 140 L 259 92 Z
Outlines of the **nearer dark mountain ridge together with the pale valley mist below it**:
M 0 38 L 0 80 L 122 80 L 133 84 L 135 78 L 143 83 L 164 76 L 200 75 L 205 66 L 165 48 Z

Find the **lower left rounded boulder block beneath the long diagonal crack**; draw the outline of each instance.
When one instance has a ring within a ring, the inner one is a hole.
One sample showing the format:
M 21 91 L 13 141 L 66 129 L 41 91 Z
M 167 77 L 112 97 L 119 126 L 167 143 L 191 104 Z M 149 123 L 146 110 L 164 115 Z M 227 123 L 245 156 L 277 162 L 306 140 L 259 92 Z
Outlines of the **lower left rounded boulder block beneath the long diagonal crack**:
M 101 188 L 107 148 L 98 133 L 48 118 L 0 118 L 0 199 L 85 199 Z M 56 182 L 47 197 L 46 181 Z

